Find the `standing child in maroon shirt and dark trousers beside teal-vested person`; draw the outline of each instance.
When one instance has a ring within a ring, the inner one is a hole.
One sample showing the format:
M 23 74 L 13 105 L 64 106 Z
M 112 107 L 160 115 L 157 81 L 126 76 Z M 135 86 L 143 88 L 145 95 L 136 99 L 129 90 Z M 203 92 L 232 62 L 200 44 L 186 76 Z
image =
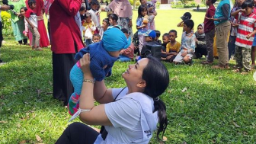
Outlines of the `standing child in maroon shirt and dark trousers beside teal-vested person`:
M 206 11 L 206 15 L 203 21 L 204 25 L 204 33 L 206 35 L 206 50 L 207 50 L 207 60 L 203 61 L 203 64 L 212 64 L 213 63 L 213 39 L 215 36 L 215 25 L 213 21 L 210 21 L 208 18 L 213 18 L 215 14 L 215 7 L 214 3 L 216 0 L 207 0 L 206 5 L 209 6 L 209 8 Z

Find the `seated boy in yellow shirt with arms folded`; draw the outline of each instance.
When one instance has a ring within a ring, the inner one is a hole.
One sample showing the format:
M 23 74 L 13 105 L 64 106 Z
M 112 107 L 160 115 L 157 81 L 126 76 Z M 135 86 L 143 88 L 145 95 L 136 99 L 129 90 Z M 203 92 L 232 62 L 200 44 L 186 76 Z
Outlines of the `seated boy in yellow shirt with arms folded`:
M 177 38 L 177 31 L 170 30 L 169 31 L 169 39 L 170 42 L 166 45 L 166 61 L 173 62 L 175 57 L 178 55 L 178 52 L 181 48 L 181 43 L 176 41 Z

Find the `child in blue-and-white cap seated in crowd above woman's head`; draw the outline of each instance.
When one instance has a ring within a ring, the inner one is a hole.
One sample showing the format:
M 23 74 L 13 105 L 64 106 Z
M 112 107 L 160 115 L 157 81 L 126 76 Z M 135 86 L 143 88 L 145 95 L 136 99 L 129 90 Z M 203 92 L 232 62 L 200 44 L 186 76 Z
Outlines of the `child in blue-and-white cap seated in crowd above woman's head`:
M 146 33 L 144 33 L 143 35 L 144 35 L 145 43 L 142 46 L 141 57 L 144 57 L 144 54 L 146 52 L 146 46 L 159 45 L 159 43 L 155 41 L 155 37 L 156 37 L 155 30 L 147 30 Z

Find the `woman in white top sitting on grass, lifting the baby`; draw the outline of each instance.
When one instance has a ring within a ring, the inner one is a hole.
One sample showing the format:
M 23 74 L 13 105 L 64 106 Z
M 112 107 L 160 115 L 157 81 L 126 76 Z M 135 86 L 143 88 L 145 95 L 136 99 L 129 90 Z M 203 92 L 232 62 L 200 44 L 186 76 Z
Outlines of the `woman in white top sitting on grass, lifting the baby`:
M 128 66 L 122 74 L 126 88 L 107 88 L 104 80 L 94 82 L 91 62 L 88 53 L 79 62 L 86 80 L 79 102 L 83 123 L 70 124 L 56 144 L 146 144 L 155 130 L 155 136 L 161 140 L 168 117 L 160 96 L 169 84 L 169 73 L 162 62 L 149 56 Z M 94 100 L 100 104 L 95 105 Z M 104 128 L 98 133 L 88 125 Z

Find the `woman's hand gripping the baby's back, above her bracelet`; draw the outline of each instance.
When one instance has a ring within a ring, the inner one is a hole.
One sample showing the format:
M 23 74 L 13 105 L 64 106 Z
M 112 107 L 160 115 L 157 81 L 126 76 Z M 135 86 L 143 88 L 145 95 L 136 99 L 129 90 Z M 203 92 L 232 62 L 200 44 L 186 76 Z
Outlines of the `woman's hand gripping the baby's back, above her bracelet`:
M 81 69 L 82 72 L 84 72 L 84 77 L 86 76 L 87 78 L 93 78 L 93 76 L 91 75 L 91 69 L 90 69 L 90 54 L 86 53 L 82 59 L 80 59 L 80 65 L 81 65 Z

